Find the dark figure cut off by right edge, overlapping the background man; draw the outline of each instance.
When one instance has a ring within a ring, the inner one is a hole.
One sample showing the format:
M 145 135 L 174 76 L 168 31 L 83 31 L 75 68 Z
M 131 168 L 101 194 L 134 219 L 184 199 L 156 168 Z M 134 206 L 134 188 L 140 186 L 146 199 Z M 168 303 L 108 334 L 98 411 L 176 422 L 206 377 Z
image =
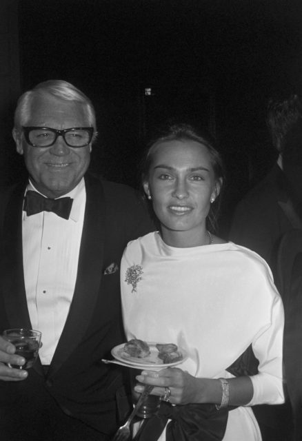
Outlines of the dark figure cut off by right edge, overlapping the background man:
M 302 218 L 302 123 L 291 130 L 283 155 L 290 199 Z M 285 310 L 283 362 L 292 407 L 292 438 L 302 439 L 302 229 L 283 234 L 276 252 L 274 274 Z

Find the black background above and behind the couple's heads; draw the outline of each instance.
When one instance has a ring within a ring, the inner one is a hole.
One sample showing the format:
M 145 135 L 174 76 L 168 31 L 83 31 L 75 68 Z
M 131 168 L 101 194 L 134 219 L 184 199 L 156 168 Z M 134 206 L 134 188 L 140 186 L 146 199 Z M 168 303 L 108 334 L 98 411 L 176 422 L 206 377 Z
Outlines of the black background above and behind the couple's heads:
M 301 3 L 21 0 L 21 89 L 64 79 L 90 96 L 99 129 L 92 170 L 132 186 L 153 123 L 199 120 L 225 158 L 227 224 L 275 158 L 268 99 L 301 94 Z

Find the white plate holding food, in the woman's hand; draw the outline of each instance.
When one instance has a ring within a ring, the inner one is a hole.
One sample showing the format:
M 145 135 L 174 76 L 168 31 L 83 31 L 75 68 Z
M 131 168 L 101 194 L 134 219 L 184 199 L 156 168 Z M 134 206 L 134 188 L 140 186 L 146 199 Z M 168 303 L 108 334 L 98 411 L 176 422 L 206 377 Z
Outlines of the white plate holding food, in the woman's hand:
M 177 349 L 178 352 L 181 353 L 183 358 L 178 361 L 174 361 L 172 363 L 163 363 L 163 360 L 158 358 L 159 350 L 157 349 L 156 345 L 158 343 L 154 342 L 148 342 L 148 345 L 150 347 L 150 355 L 148 357 L 144 358 L 138 358 L 138 357 L 131 357 L 128 355 L 128 353 L 125 353 L 123 351 L 123 347 L 125 346 L 125 343 L 122 343 L 121 345 L 118 345 L 114 347 L 111 351 L 112 356 L 121 362 L 123 364 L 128 365 L 129 367 L 133 367 L 135 369 L 141 369 L 141 368 L 160 368 L 163 369 L 164 367 L 172 367 L 180 365 L 184 360 L 188 358 L 187 353 L 185 350 L 181 347 Z

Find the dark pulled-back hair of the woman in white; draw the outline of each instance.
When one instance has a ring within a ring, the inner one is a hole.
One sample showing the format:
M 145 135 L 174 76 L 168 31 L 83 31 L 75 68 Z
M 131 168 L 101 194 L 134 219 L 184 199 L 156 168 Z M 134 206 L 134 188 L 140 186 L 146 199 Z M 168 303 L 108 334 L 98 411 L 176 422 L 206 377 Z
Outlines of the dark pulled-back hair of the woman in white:
M 214 203 L 210 206 L 210 212 L 208 214 L 207 227 L 214 232 L 217 229 L 217 219 L 219 215 L 219 209 L 221 207 L 221 193 L 225 183 L 224 165 L 221 155 L 214 147 L 214 141 L 210 139 L 210 136 L 203 134 L 193 125 L 187 123 L 165 123 L 159 127 L 154 136 L 150 139 L 143 155 L 143 161 L 141 162 L 141 182 L 148 181 L 150 167 L 154 152 L 159 143 L 166 141 L 195 141 L 204 145 L 210 154 L 211 163 L 214 171 L 215 181 L 220 185 L 220 192 Z

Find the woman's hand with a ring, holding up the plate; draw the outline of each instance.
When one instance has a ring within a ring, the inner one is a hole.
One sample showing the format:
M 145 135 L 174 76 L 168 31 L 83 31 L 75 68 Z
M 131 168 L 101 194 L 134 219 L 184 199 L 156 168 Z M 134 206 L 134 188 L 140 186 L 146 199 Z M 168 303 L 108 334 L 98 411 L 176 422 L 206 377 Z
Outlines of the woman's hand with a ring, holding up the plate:
M 141 383 L 134 387 L 134 391 L 141 393 L 143 384 L 152 384 L 152 395 L 164 396 L 166 387 L 170 389 L 170 402 L 172 404 L 188 404 L 200 402 L 201 378 L 195 378 L 190 373 L 177 367 L 168 367 L 161 371 L 142 371 L 136 379 Z M 198 383 L 198 384 L 197 384 Z

